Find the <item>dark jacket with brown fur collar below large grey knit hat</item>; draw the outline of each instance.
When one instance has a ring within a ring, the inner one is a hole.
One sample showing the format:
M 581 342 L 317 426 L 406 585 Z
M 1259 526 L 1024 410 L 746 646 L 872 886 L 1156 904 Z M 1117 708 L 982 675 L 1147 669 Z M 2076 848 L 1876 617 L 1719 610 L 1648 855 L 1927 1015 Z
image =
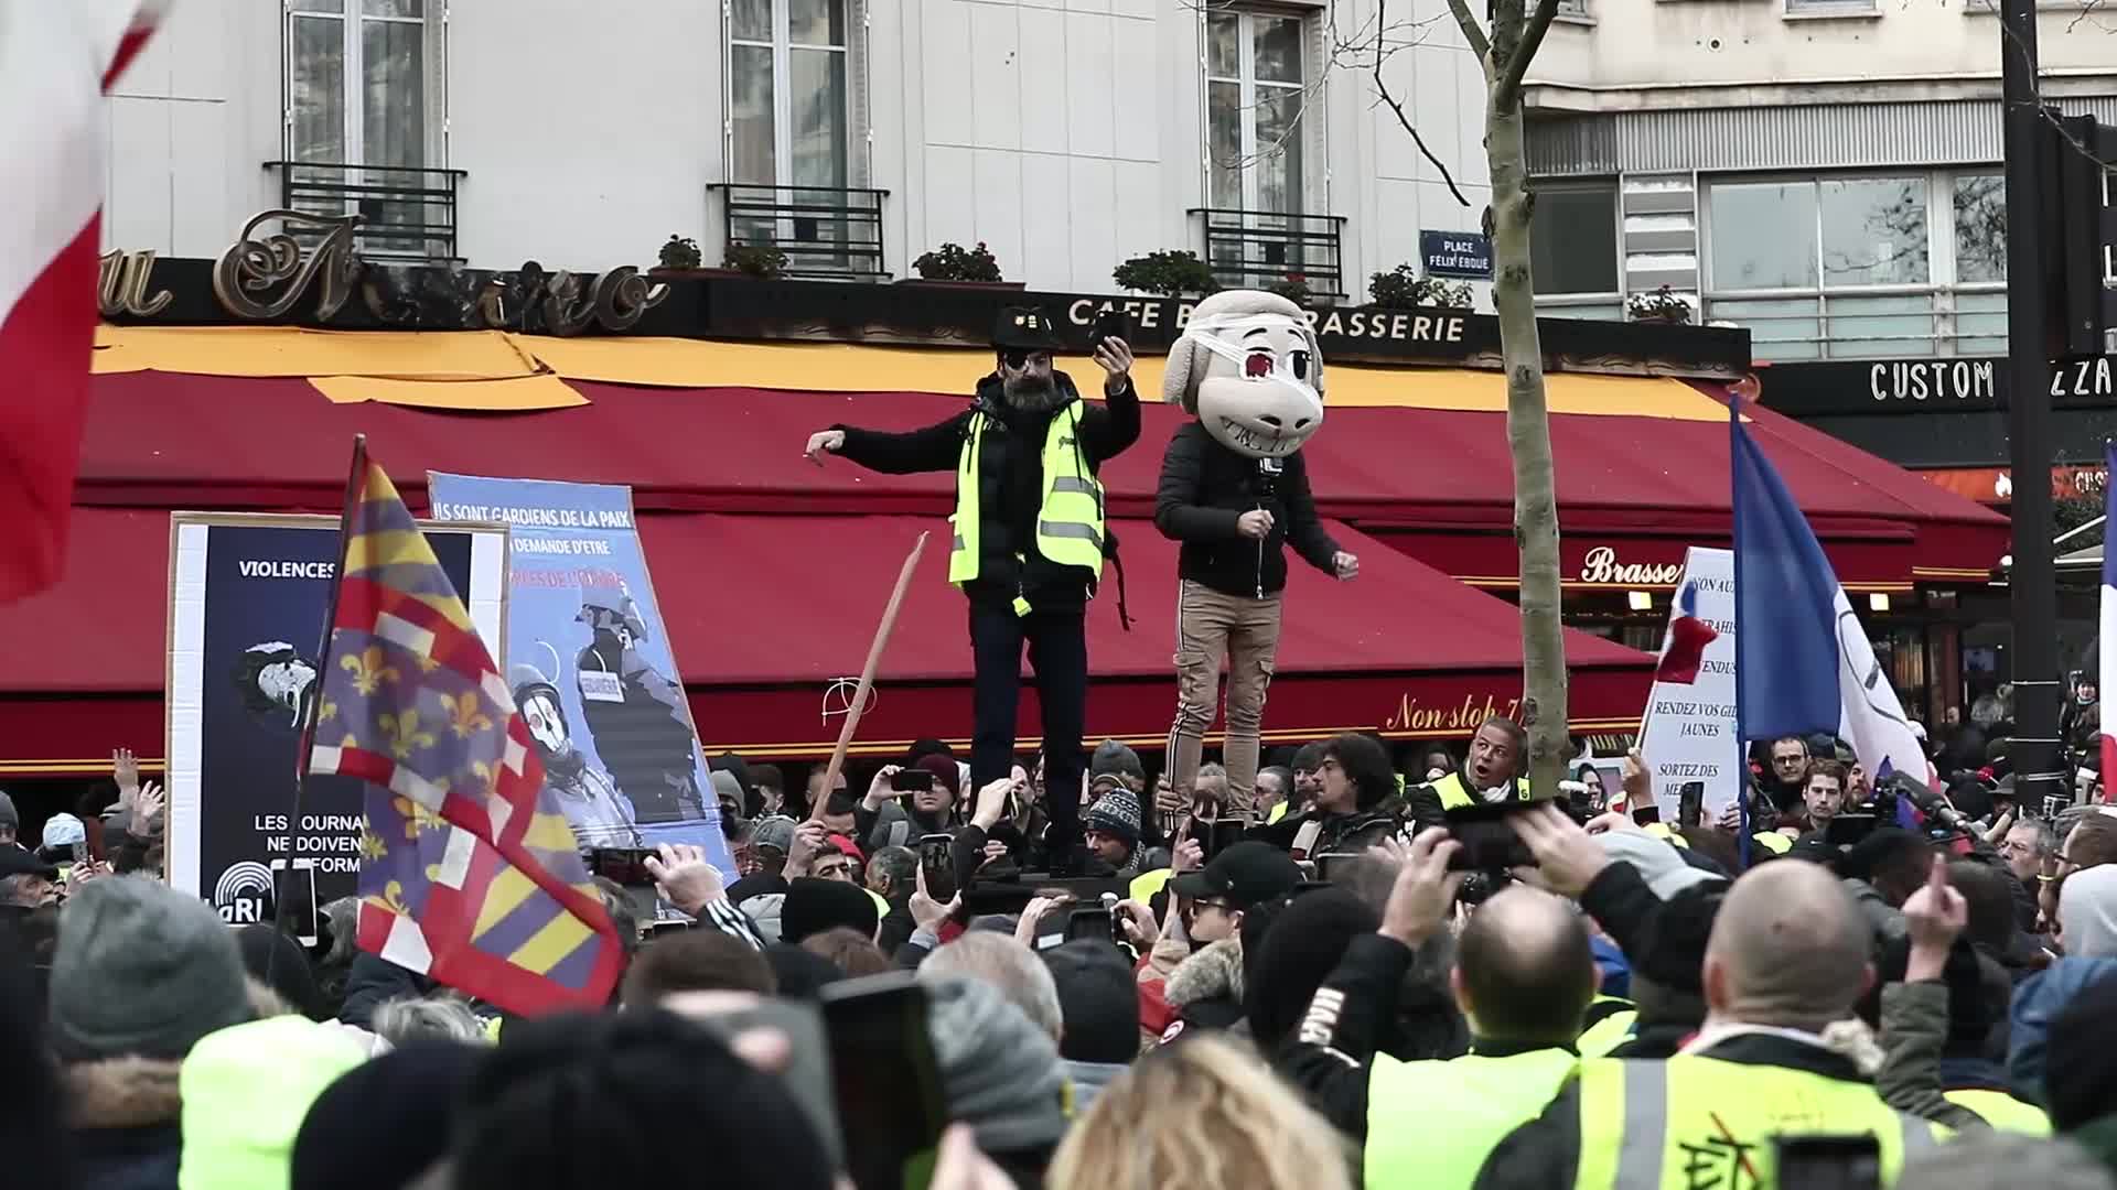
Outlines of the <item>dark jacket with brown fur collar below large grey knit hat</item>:
M 184 1099 L 178 1063 L 138 1057 L 61 1071 L 80 1190 L 178 1190 Z

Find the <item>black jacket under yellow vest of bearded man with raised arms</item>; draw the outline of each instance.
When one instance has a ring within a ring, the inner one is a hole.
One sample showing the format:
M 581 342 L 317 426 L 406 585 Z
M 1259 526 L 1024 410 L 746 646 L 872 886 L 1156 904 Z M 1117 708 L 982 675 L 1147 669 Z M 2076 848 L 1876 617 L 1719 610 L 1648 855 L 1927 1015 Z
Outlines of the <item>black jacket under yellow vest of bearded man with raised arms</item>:
M 1052 379 L 1069 402 L 1080 400 L 1071 377 L 1052 373 Z M 970 409 L 925 430 L 906 434 L 853 426 L 832 426 L 832 430 L 845 432 L 845 447 L 838 453 L 868 470 L 883 474 L 955 470 L 963 459 L 963 443 L 970 438 L 970 417 L 980 411 L 991 423 L 984 430 L 978 457 L 978 517 L 982 521 L 978 578 L 965 582 L 963 593 L 974 603 L 1001 606 L 1025 595 L 1037 610 L 1080 610 L 1090 595 L 1088 572 L 1078 565 L 1056 565 L 1037 553 L 1035 523 L 1044 506 L 1044 432 L 1056 411 L 1008 409 L 995 373 L 978 381 L 978 396 Z M 1082 404 L 1080 451 L 1090 474 L 1137 440 L 1139 390 L 1130 381 L 1126 381 L 1124 392 L 1101 404 Z

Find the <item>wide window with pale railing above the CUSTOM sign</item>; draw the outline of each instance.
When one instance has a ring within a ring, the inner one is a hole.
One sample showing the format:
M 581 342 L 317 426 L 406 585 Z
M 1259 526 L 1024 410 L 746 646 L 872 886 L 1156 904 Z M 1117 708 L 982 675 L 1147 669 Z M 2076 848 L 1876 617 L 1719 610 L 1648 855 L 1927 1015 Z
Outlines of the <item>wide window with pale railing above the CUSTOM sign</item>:
M 1706 186 L 1706 315 L 1759 360 L 2005 351 L 1996 174 L 1723 180 Z

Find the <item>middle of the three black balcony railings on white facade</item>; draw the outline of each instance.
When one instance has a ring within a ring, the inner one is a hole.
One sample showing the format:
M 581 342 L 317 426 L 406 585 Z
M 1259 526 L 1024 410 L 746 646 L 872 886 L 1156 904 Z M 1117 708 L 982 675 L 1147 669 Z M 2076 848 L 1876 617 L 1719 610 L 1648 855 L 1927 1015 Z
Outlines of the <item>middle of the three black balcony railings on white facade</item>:
M 883 199 L 840 186 L 707 186 L 722 197 L 728 246 L 785 252 L 788 277 L 874 280 L 883 271 Z

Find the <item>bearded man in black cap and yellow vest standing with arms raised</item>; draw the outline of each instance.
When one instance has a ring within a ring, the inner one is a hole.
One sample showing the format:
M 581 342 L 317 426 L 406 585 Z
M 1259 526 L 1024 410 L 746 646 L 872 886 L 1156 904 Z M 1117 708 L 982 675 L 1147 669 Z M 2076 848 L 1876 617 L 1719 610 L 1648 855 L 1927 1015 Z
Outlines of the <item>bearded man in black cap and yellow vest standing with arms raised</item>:
M 999 311 L 997 366 L 978 381 L 970 409 L 889 434 L 832 426 L 809 438 L 807 455 L 847 459 L 883 474 L 955 472 L 948 582 L 970 599 L 974 678 L 972 788 L 1014 769 L 1014 711 L 1023 646 L 1044 707 L 1046 845 L 1054 870 L 1078 864 L 1082 718 L 1088 701 L 1084 616 L 1103 574 L 1109 529 L 1097 470 L 1139 440 L 1133 349 L 1101 339 L 1103 404 L 1088 404 L 1073 379 L 1052 371 L 1063 347 L 1035 307 Z

